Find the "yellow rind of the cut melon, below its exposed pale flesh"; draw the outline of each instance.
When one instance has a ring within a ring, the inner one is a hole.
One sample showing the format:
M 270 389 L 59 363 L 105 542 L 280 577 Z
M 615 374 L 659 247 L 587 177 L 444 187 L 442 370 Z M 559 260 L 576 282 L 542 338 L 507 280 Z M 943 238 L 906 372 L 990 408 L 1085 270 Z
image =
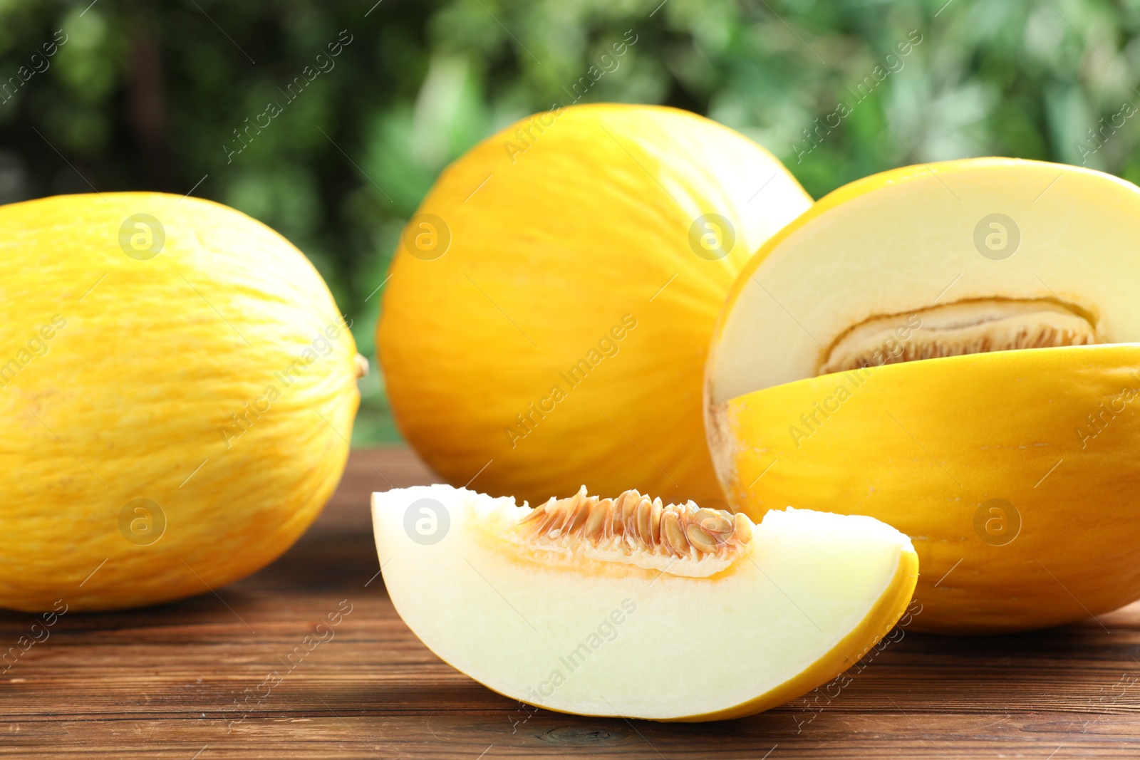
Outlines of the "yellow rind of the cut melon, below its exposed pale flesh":
M 1028 630 L 1108 612 L 1140 597 L 1140 416 L 1117 415 L 1086 448 L 1074 427 L 1140 385 L 1138 373 L 1140 345 L 1080 346 L 886 365 L 738 397 L 720 418 L 731 439 L 755 443 L 732 450 L 730 500 L 749 515 L 787 505 L 873 515 L 911 536 L 923 567 L 914 630 Z M 797 449 L 789 410 L 812 411 L 839 386 L 849 393 L 839 412 L 817 416 Z

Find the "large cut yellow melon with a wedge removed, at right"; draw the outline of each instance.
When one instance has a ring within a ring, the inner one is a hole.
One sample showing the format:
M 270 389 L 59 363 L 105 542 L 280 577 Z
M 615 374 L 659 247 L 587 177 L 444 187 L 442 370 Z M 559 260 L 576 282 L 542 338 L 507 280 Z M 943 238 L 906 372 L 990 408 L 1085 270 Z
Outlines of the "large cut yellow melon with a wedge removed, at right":
M 1140 189 L 978 158 L 821 199 L 712 338 L 732 505 L 871 515 L 922 562 L 918 629 L 1054 626 L 1140 598 Z

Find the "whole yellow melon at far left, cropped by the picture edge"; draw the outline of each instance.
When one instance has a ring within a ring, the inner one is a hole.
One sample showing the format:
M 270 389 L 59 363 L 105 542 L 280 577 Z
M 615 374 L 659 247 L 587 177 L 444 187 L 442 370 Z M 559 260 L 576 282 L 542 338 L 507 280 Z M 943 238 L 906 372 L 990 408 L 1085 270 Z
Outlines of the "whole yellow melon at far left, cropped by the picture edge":
M 154 604 L 264 566 L 341 476 L 355 357 L 312 265 L 231 209 L 0 207 L 0 606 Z

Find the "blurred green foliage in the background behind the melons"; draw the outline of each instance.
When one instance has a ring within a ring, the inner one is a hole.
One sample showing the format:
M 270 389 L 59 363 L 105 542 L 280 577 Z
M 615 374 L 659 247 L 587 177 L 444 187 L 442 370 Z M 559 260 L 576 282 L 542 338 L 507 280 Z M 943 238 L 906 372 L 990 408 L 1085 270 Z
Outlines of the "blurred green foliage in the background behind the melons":
M 397 436 L 373 329 L 404 220 L 474 142 L 570 103 L 627 30 L 584 101 L 707 114 L 816 197 L 976 155 L 1140 180 L 1135 0 L 88 2 L 0 0 L 0 202 L 202 180 L 283 232 L 373 359 L 358 442 Z

